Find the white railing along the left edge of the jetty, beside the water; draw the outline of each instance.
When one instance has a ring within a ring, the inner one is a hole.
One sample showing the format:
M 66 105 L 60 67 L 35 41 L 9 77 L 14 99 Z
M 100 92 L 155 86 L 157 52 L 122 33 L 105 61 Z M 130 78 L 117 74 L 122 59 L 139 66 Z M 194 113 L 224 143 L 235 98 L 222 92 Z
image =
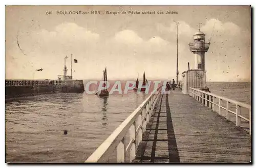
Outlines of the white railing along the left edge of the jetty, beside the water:
M 128 116 L 85 162 L 102 162 L 116 150 L 117 162 L 132 162 L 160 95 L 160 86 Z M 127 137 L 126 135 L 129 134 Z M 126 139 L 127 138 L 127 139 Z M 128 142 L 128 143 L 125 143 Z

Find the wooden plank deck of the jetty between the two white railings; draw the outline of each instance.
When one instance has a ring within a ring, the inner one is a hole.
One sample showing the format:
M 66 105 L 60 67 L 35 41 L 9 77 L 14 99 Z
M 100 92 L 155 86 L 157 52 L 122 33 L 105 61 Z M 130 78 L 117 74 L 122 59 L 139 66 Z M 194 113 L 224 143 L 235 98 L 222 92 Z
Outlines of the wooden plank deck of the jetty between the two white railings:
M 133 162 L 250 162 L 251 136 L 195 99 L 162 94 Z

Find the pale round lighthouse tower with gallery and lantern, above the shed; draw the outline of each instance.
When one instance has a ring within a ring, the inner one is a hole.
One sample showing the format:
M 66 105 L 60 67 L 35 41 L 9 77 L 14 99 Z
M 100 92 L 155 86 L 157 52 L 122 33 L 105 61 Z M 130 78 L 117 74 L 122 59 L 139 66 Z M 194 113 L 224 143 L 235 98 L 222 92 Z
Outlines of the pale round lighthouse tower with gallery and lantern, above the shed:
M 194 34 L 194 42 L 189 43 L 189 49 L 194 54 L 194 69 L 205 70 L 204 55 L 209 49 L 209 43 L 205 42 L 205 34 L 201 32 L 200 28 L 198 32 Z

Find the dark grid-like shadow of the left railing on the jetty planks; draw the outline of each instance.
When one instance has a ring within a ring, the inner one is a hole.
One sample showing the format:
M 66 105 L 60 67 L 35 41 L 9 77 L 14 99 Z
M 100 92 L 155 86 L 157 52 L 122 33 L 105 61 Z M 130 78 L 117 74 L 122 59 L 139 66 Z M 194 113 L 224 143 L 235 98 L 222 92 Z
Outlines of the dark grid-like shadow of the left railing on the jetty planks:
M 180 162 L 168 94 L 162 94 L 153 112 L 133 162 Z

